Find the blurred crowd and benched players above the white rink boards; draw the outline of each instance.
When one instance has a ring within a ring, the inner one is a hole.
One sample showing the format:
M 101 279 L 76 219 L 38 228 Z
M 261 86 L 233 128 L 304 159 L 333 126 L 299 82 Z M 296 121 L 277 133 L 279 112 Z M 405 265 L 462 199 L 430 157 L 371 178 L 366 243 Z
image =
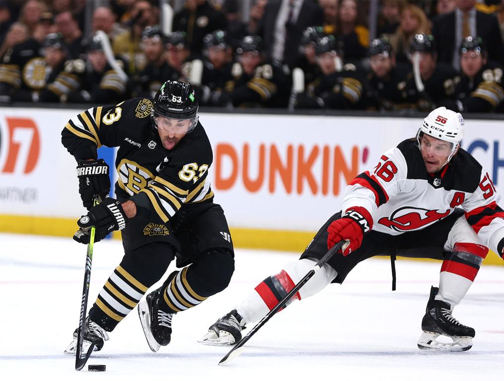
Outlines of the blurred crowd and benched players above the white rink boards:
M 504 112 L 504 0 L 250 0 L 246 21 L 238 0 L 168 3 L 93 2 L 87 25 L 85 0 L 0 0 L 0 103 L 182 80 L 204 106 Z

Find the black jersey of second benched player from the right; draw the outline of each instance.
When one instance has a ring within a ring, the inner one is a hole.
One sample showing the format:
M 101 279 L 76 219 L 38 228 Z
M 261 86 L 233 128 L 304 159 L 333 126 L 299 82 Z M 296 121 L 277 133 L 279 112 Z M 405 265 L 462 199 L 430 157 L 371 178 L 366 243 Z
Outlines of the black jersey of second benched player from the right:
M 459 74 L 447 63 L 437 63 L 430 78 L 423 81 L 425 90 L 419 93 L 413 73 L 409 73 L 405 88 L 405 102 L 419 111 L 430 111 L 436 105 L 455 99 L 455 87 L 460 81 Z

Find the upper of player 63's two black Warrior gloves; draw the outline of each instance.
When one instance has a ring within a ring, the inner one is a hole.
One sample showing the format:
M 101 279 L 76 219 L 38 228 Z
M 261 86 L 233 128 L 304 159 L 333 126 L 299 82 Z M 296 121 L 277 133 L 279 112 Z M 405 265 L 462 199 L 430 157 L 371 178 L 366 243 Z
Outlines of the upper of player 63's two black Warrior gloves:
M 105 200 L 110 192 L 108 164 L 103 159 L 79 160 L 77 177 L 79 177 L 79 193 L 81 194 L 82 204 L 88 210 L 93 206 L 94 195 L 98 195 L 101 200 Z

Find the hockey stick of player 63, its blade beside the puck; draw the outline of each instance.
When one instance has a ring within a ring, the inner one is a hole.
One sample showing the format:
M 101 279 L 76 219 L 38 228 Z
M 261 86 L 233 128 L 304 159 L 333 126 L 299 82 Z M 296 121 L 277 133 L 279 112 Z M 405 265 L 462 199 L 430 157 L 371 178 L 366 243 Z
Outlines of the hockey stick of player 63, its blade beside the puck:
M 93 199 L 93 206 L 98 204 L 98 197 Z M 84 332 L 86 325 L 86 311 L 88 308 L 89 283 L 91 281 L 91 263 L 93 262 L 93 244 L 94 244 L 95 227 L 91 227 L 89 235 L 88 251 L 86 254 L 86 269 L 84 271 L 84 286 L 82 289 L 81 299 L 81 316 L 79 318 L 79 330 L 77 331 L 77 350 L 75 351 L 75 370 L 81 370 L 94 349 L 94 344 L 91 344 L 87 353 L 82 353 L 82 345 L 84 343 Z

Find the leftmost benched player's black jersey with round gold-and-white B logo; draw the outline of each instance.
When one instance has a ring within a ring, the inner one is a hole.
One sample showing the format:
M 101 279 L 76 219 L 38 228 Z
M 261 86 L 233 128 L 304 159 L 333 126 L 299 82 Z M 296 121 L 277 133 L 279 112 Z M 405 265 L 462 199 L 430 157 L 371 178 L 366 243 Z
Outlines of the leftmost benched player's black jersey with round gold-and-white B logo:
M 51 69 L 39 53 L 40 44 L 29 39 L 9 49 L 0 64 L 0 90 L 13 101 L 32 101 L 33 92 L 45 87 Z

